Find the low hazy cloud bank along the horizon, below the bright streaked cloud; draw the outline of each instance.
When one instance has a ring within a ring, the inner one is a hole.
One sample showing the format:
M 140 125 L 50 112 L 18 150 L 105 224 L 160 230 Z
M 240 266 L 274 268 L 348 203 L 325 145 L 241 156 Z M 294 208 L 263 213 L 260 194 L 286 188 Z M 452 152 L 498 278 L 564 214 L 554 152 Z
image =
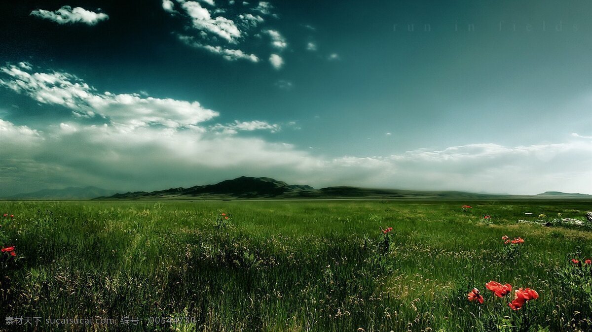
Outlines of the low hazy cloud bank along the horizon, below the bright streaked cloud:
M 235 121 L 218 129 L 240 134 L 275 128 L 266 122 Z M 123 128 L 70 122 L 40 131 L 0 121 L 0 145 L 4 154 L 0 159 L 0 181 L 4 184 L 0 195 L 9 190 L 81 184 L 156 190 L 239 175 L 270 176 L 315 187 L 359 185 L 514 194 L 547 190 L 590 193 L 592 187 L 592 142 L 588 141 L 517 147 L 468 144 L 382 157 L 330 158 L 291 144 L 211 135 L 197 127 Z

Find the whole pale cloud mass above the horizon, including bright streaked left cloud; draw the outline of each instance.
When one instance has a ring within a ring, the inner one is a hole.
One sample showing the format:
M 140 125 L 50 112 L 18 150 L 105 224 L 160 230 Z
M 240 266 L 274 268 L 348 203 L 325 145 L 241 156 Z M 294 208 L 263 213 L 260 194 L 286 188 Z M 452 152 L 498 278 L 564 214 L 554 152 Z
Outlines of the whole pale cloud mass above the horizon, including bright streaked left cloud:
M 0 67 L 0 86 L 76 115 L 38 126 L 0 118 L 0 196 L 67 185 L 156 190 L 240 175 L 315 187 L 514 194 L 590 193 L 592 188 L 592 141 L 580 135 L 553 144 L 466 144 L 378 157 L 331 157 L 252 135 L 278 133 L 282 126 L 276 123 L 206 125 L 218 113 L 198 102 L 99 93 L 73 74 L 37 72 L 25 62 Z M 103 123 L 81 121 L 92 116 Z

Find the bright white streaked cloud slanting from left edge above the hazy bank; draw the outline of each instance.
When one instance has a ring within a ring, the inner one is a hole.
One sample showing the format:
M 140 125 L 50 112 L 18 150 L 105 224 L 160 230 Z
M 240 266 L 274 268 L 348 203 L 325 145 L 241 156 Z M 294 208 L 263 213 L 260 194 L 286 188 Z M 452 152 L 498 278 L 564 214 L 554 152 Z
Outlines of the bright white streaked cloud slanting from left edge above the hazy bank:
M 208 121 L 218 115 L 198 102 L 141 97 L 136 93 L 98 93 L 78 77 L 58 71 L 33 73 L 7 65 L 0 67 L 0 73 L 6 77 L 0 79 L 0 86 L 37 102 L 65 106 L 79 116 L 99 115 L 128 127 L 159 124 L 176 128 Z

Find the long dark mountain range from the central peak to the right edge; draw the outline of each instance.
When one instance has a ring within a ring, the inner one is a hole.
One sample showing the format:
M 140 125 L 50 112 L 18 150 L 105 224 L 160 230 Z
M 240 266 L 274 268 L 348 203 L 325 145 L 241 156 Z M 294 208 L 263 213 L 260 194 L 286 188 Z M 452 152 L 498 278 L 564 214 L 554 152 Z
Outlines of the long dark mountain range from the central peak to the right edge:
M 552 193 L 552 192 L 551 192 Z M 592 199 L 584 194 L 539 194 L 535 196 L 466 193 L 464 191 L 421 191 L 373 189 L 358 187 L 326 187 L 315 189 L 310 185 L 289 185 L 284 181 L 267 177 L 239 177 L 217 184 L 196 185 L 191 188 L 170 188 L 167 190 L 136 191 L 134 193 L 115 194 L 110 197 L 98 197 L 108 200 L 153 200 L 153 199 L 234 199 L 234 198 L 301 198 L 301 199 L 417 199 L 417 200 L 465 200 L 465 199 Z

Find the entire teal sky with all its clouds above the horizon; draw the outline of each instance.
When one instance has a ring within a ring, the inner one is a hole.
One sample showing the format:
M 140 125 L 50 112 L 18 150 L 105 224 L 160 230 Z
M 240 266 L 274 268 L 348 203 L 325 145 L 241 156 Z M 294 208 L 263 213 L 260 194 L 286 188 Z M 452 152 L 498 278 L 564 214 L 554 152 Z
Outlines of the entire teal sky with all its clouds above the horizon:
M 592 194 L 592 2 L 7 1 L 0 196 Z

